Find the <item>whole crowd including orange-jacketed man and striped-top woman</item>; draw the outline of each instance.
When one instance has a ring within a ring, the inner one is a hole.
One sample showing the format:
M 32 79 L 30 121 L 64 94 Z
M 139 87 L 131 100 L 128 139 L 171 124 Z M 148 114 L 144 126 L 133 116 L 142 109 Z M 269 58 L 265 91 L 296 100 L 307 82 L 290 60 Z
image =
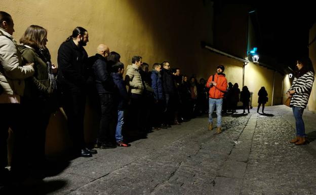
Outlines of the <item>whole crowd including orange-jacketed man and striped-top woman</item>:
M 92 157 L 97 150 L 88 147 L 84 140 L 84 115 L 86 97 L 97 98 L 100 125 L 95 148 L 128 147 L 122 130 L 145 135 L 151 130 L 180 125 L 185 119 L 209 112 L 208 129 L 213 129 L 212 113 L 216 107 L 217 133 L 221 133 L 221 112 L 227 108 L 235 112 L 239 100 L 249 112 L 250 92 L 242 92 L 238 84 L 227 86 L 224 66 L 206 82 L 192 76 L 180 75 L 179 68 L 171 68 L 168 61 L 154 63 L 152 69 L 134 56 L 126 68 L 120 54 L 100 44 L 97 53 L 88 57 L 84 46 L 89 42 L 88 31 L 76 27 L 58 50 L 58 66 L 51 62 L 46 47 L 48 31 L 30 25 L 20 38 L 20 45 L 13 38 L 12 17 L 0 11 L 0 183 L 5 182 L 9 171 L 7 159 L 8 129 L 14 132 L 14 149 L 11 173 L 36 170 L 45 162 L 45 137 L 50 115 L 62 107 L 67 116 L 67 127 L 73 143 L 74 154 Z M 288 91 L 296 118 L 297 137 L 291 142 L 305 142 L 304 124 L 301 119 L 313 81 L 313 73 L 297 62 L 297 73 Z M 241 98 L 239 99 L 239 94 Z M 306 95 L 302 95 L 306 94 Z M 262 87 L 258 93 L 259 107 L 267 102 L 267 92 Z M 232 103 L 227 103 L 228 102 Z M 207 103 L 208 101 L 208 103 Z M 224 102 L 224 105 L 223 105 Z M 207 106 L 209 104 L 209 106 Z M 228 106 L 227 106 L 228 105 Z M 207 107 L 209 110 L 207 110 Z M 23 146 L 36 149 L 26 153 Z M 25 174 L 27 175 L 27 173 Z

